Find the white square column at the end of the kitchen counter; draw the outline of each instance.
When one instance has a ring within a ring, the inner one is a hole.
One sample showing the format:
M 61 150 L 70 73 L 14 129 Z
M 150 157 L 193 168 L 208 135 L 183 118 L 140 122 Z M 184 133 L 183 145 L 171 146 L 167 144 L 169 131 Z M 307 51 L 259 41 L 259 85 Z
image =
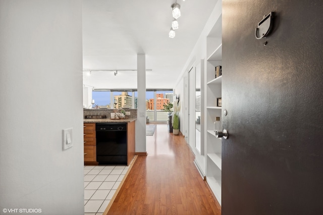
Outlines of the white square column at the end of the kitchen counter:
M 136 152 L 146 152 L 146 56 L 137 55 Z

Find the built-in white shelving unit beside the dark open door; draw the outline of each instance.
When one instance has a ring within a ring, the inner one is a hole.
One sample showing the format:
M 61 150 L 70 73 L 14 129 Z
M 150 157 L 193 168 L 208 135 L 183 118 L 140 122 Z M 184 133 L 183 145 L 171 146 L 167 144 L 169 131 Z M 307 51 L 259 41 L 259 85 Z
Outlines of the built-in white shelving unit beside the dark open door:
M 216 77 L 216 67 L 222 66 L 222 16 L 206 37 L 206 182 L 221 204 L 222 139 L 216 137 L 214 121 L 222 114 L 217 98 L 222 98 L 222 76 Z

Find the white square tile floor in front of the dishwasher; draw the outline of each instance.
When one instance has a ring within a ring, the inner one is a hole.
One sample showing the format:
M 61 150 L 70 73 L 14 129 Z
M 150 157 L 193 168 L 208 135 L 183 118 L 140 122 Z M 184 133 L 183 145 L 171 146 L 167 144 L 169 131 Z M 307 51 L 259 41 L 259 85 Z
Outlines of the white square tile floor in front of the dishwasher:
M 84 214 L 104 212 L 128 169 L 128 166 L 84 166 Z

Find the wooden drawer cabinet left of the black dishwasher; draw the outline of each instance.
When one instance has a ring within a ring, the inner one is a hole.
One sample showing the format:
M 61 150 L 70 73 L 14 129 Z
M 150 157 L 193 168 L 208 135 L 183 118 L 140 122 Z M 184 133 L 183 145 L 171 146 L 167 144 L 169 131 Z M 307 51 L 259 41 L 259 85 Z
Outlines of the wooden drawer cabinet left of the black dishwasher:
M 84 123 L 84 162 L 96 163 L 95 123 Z

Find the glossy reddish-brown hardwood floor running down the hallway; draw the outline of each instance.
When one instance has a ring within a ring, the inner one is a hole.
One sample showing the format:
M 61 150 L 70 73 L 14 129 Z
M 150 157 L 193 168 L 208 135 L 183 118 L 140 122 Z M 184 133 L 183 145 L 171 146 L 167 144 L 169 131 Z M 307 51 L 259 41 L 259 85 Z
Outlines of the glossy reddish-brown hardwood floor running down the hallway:
M 221 214 L 184 137 L 157 124 L 107 214 Z

